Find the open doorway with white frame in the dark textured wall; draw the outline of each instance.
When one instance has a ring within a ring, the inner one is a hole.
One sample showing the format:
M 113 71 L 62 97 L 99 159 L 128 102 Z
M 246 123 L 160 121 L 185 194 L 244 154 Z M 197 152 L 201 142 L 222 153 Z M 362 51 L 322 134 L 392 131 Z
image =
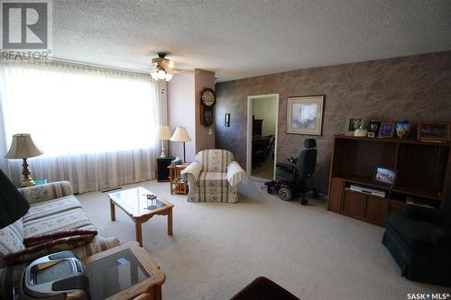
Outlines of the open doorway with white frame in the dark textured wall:
M 246 173 L 262 179 L 275 179 L 279 94 L 247 97 Z

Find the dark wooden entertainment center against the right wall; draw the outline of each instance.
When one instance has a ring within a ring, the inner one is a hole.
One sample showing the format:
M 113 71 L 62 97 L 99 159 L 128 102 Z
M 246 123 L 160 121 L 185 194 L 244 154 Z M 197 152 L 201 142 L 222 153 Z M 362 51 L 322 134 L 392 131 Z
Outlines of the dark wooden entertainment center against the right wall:
M 377 166 L 398 170 L 395 186 L 373 181 Z M 408 198 L 444 209 L 451 197 L 450 167 L 450 142 L 336 135 L 327 209 L 380 226 Z M 383 190 L 385 197 L 352 191 L 354 184 Z

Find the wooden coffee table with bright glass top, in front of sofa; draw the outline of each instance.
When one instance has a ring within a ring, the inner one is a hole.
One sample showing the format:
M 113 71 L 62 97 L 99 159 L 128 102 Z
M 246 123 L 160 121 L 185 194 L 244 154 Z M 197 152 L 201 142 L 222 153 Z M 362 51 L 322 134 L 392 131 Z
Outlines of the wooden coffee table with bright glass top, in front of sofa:
M 108 194 L 110 198 L 111 221 L 115 221 L 115 205 L 133 220 L 136 231 L 136 241 L 143 247 L 142 224 L 155 214 L 168 216 L 168 235 L 172 235 L 172 205 L 158 197 L 157 200 L 148 200 L 147 195 L 153 194 L 142 186 L 125 189 L 120 192 Z M 155 195 L 155 194 L 153 194 Z

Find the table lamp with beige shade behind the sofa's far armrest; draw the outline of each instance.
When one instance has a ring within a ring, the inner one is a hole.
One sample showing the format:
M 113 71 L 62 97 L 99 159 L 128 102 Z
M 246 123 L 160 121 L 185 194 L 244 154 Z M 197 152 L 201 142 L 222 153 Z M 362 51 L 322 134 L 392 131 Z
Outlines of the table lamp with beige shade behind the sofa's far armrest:
M 11 147 L 6 153 L 6 159 L 23 159 L 22 174 L 23 178 L 21 181 L 21 186 L 34 186 L 34 181 L 30 174 L 32 171 L 28 167 L 28 158 L 33 158 L 35 156 L 41 155 L 43 152 L 36 147 L 32 141 L 32 136 L 30 133 L 17 133 L 13 135 L 13 141 L 11 142 Z

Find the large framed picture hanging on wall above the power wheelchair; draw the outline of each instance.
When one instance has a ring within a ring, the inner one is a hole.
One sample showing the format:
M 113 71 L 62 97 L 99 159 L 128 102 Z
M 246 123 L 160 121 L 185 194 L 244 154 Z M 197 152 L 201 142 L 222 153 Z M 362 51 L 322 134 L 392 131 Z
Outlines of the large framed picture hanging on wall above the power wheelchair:
M 323 134 L 324 95 L 287 99 L 287 133 Z

